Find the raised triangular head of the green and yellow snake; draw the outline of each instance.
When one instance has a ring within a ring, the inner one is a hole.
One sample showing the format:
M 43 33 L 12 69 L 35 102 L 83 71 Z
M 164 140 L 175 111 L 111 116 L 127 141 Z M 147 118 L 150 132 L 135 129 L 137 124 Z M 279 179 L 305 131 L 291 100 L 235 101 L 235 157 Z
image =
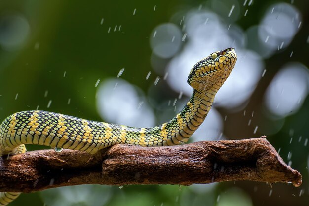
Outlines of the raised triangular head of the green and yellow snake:
M 229 77 L 236 60 L 234 48 L 213 52 L 194 65 L 188 76 L 188 84 L 196 90 L 218 91 Z

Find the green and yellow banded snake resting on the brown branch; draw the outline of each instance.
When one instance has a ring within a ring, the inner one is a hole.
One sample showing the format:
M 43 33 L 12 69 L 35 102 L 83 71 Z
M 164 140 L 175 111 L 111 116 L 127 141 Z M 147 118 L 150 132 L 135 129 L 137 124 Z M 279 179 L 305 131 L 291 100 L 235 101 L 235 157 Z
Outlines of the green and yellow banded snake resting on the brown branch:
M 114 144 L 171 146 L 186 143 L 207 116 L 215 95 L 237 60 L 233 48 L 217 51 L 196 63 L 188 83 L 193 94 L 182 111 L 169 122 L 151 128 L 134 128 L 95 122 L 47 111 L 23 111 L 10 115 L 0 125 L 0 156 L 26 152 L 25 144 L 39 144 L 91 154 Z M 0 192 L 0 206 L 19 196 Z

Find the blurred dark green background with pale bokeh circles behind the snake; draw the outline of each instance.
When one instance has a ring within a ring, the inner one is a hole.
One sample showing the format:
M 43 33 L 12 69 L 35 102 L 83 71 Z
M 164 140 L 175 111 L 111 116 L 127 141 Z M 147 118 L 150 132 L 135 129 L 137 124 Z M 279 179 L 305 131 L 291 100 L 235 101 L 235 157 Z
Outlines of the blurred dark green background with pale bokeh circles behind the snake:
M 308 14 L 304 0 L 0 0 L 0 120 L 39 109 L 152 127 L 189 100 L 198 60 L 234 47 L 237 64 L 190 141 L 266 135 L 303 175 L 299 188 L 80 185 L 11 206 L 308 205 Z

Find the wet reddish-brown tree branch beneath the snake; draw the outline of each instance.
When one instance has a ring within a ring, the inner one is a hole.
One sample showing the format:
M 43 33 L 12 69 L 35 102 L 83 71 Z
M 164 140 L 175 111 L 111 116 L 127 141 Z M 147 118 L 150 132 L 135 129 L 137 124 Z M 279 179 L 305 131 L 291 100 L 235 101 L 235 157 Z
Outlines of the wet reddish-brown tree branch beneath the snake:
M 230 180 L 302 183 L 266 138 L 181 146 L 115 145 L 95 155 L 38 150 L 0 158 L 0 191 L 33 192 L 79 184 L 206 184 Z

